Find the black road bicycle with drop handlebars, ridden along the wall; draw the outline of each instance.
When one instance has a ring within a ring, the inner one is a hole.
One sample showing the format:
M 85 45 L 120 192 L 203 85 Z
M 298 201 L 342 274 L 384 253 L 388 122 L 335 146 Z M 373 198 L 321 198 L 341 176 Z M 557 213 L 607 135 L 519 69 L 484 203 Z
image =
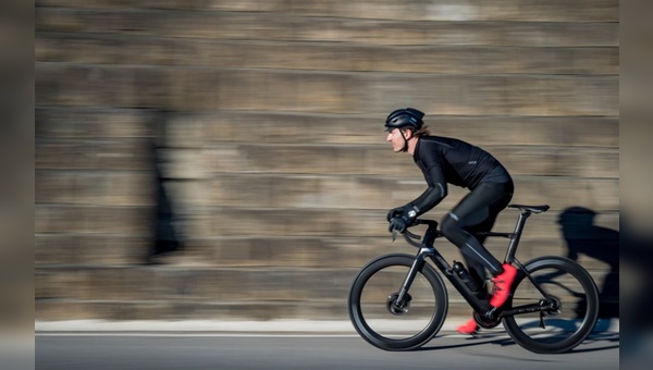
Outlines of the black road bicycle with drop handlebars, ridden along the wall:
M 545 212 L 549 206 L 508 207 L 520 211 L 513 233 L 477 234 L 509 239 L 505 262 L 515 266 L 518 273 L 512 295 L 502 307 L 490 306 L 491 280 L 472 279 L 463 263 L 454 260 L 449 264 L 435 249 L 435 239 L 443 236 L 438 222 L 418 219 L 410 227 L 427 225 L 423 236 L 404 232 L 406 242 L 418 248 L 417 255 L 379 257 L 354 279 L 348 310 L 358 334 L 385 350 L 414 349 L 431 341 L 448 309 L 442 274 L 471 306 L 480 328 L 503 323 L 508 335 L 528 350 L 558 354 L 583 342 L 599 316 L 594 280 L 580 264 L 564 257 L 538 257 L 521 263 L 515 255 L 526 221 L 531 214 Z M 416 242 L 419 239 L 421 243 Z

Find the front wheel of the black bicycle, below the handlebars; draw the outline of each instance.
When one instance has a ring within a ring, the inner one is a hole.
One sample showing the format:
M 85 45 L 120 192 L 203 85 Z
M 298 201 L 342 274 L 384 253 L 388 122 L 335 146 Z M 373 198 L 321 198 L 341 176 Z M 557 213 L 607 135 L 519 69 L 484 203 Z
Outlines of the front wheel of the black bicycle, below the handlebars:
M 390 297 L 401 289 L 415 256 L 393 254 L 366 264 L 349 289 L 349 319 L 358 334 L 385 350 L 408 350 L 429 342 L 446 318 L 448 297 L 442 278 L 424 263 L 410 286 L 407 312 L 391 312 Z

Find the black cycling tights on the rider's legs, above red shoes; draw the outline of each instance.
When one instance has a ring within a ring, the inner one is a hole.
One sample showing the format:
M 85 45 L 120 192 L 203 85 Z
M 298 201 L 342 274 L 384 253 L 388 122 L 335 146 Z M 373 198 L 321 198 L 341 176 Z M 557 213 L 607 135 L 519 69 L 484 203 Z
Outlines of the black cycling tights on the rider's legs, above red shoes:
M 496 276 L 503 267 L 483 246 L 485 237 L 476 238 L 471 233 L 491 231 L 513 192 L 512 182 L 481 183 L 442 219 L 442 234 L 460 248 L 469 273 L 479 282 L 484 281 L 483 268 Z

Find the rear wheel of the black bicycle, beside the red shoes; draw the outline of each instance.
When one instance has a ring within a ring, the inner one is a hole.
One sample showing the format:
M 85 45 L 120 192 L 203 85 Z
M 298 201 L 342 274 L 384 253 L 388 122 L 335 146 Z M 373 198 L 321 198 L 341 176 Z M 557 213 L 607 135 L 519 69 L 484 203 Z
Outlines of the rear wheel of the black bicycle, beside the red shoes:
M 525 264 L 540 286 L 560 301 L 557 312 L 517 314 L 503 319 L 506 332 L 521 347 L 537 354 L 566 353 L 582 343 L 599 317 L 599 292 L 594 280 L 580 264 L 564 257 L 541 257 Z M 537 303 L 541 294 L 519 271 L 514 295 L 506 304 L 516 307 Z M 544 328 L 540 328 L 540 322 Z

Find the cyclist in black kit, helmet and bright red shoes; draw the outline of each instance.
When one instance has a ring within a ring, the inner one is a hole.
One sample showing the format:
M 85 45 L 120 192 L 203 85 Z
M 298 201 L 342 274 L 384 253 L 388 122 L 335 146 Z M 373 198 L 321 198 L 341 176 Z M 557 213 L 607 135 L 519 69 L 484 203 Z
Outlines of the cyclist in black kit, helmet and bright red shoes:
M 441 220 L 444 236 L 456 245 L 470 275 L 483 286 L 488 270 L 494 292 L 490 305 L 501 307 L 509 296 L 517 270 L 502 264 L 483 246 L 484 238 L 471 235 L 489 232 L 496 215 L 513 198 L 514 185 L 507 170 L 489 152 L 456 138 L 432 136 L 422 121 L 424 113 L 414 108 L 391 112 L 385 120 L 386 141 L 395 152 L 412 155 L 428 188 L 415 200 L 387 212 L 389 231 L 405 232 L 420 214 L 435 207 L 447 195 L 447 184 L 470 190 Z M 457 328 L 463 334 L 478 330 L 473 319 Z

